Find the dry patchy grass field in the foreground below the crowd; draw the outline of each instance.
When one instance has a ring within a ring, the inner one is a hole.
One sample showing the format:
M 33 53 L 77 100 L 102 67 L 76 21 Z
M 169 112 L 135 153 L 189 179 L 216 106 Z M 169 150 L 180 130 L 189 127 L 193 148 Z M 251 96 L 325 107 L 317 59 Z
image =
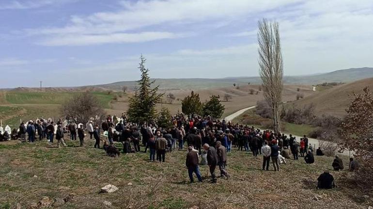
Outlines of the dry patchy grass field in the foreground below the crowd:
M 20 204 L 27 208 L 43 196 L 73 197 L 53 208 L 101 209 L 104 201 L 114 209 L 315 209 L 367 208 L 360 202 L 365 194 L 342 179 L 346 171 L 331 172 L 338 188 L 316 190 L 316 178 L 331 169 L 332 158 L 316 157 L 313 165 L 288 160 L 280 172 L 261 170 L 262 159 L 236 151 L 228 154 L 229 180 L 207 181 L 208 167 L 201 166 L 203 183 L 188 183 L 185 151 L 166 154 L 166 162 L 149 162 L 148 154 L 127 154 L 119 158 L 105 156 L 94 149 L 67 141 L 68 147 L 49 148 L 46 142 L 0 144 L 0 208 Z M 119 146 L 121 147 L 121 146 Z M 142 147 L 143 149 L 143 147 Z M 347 159 L 343 159 L 347 161 Z M 273 170 L 272 165 L 270 169 Z M 218 172 L 218 171 L 217 171 Z M 37 177 L 34 177 L 37 176 Z M 132 183 L 132 185 L 128 185 Z M 115 193 L 99 193 L 112 184 Z M 318 196 L 319 200 L 314 200 Z M 336 201 L 338 200 L 338 201 Z

